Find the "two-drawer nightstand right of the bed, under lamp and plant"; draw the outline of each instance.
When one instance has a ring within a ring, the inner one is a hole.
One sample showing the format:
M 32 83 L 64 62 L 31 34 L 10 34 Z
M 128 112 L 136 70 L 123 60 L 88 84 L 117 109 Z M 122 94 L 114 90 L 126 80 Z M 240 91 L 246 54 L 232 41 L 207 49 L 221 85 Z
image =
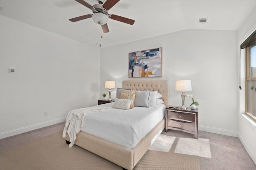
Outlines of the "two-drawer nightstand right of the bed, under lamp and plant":
M 187 107 L 186 110 L 166 107 L 165 131 L 180 130 L 195 135 L 198 138 L 198 109 Z

